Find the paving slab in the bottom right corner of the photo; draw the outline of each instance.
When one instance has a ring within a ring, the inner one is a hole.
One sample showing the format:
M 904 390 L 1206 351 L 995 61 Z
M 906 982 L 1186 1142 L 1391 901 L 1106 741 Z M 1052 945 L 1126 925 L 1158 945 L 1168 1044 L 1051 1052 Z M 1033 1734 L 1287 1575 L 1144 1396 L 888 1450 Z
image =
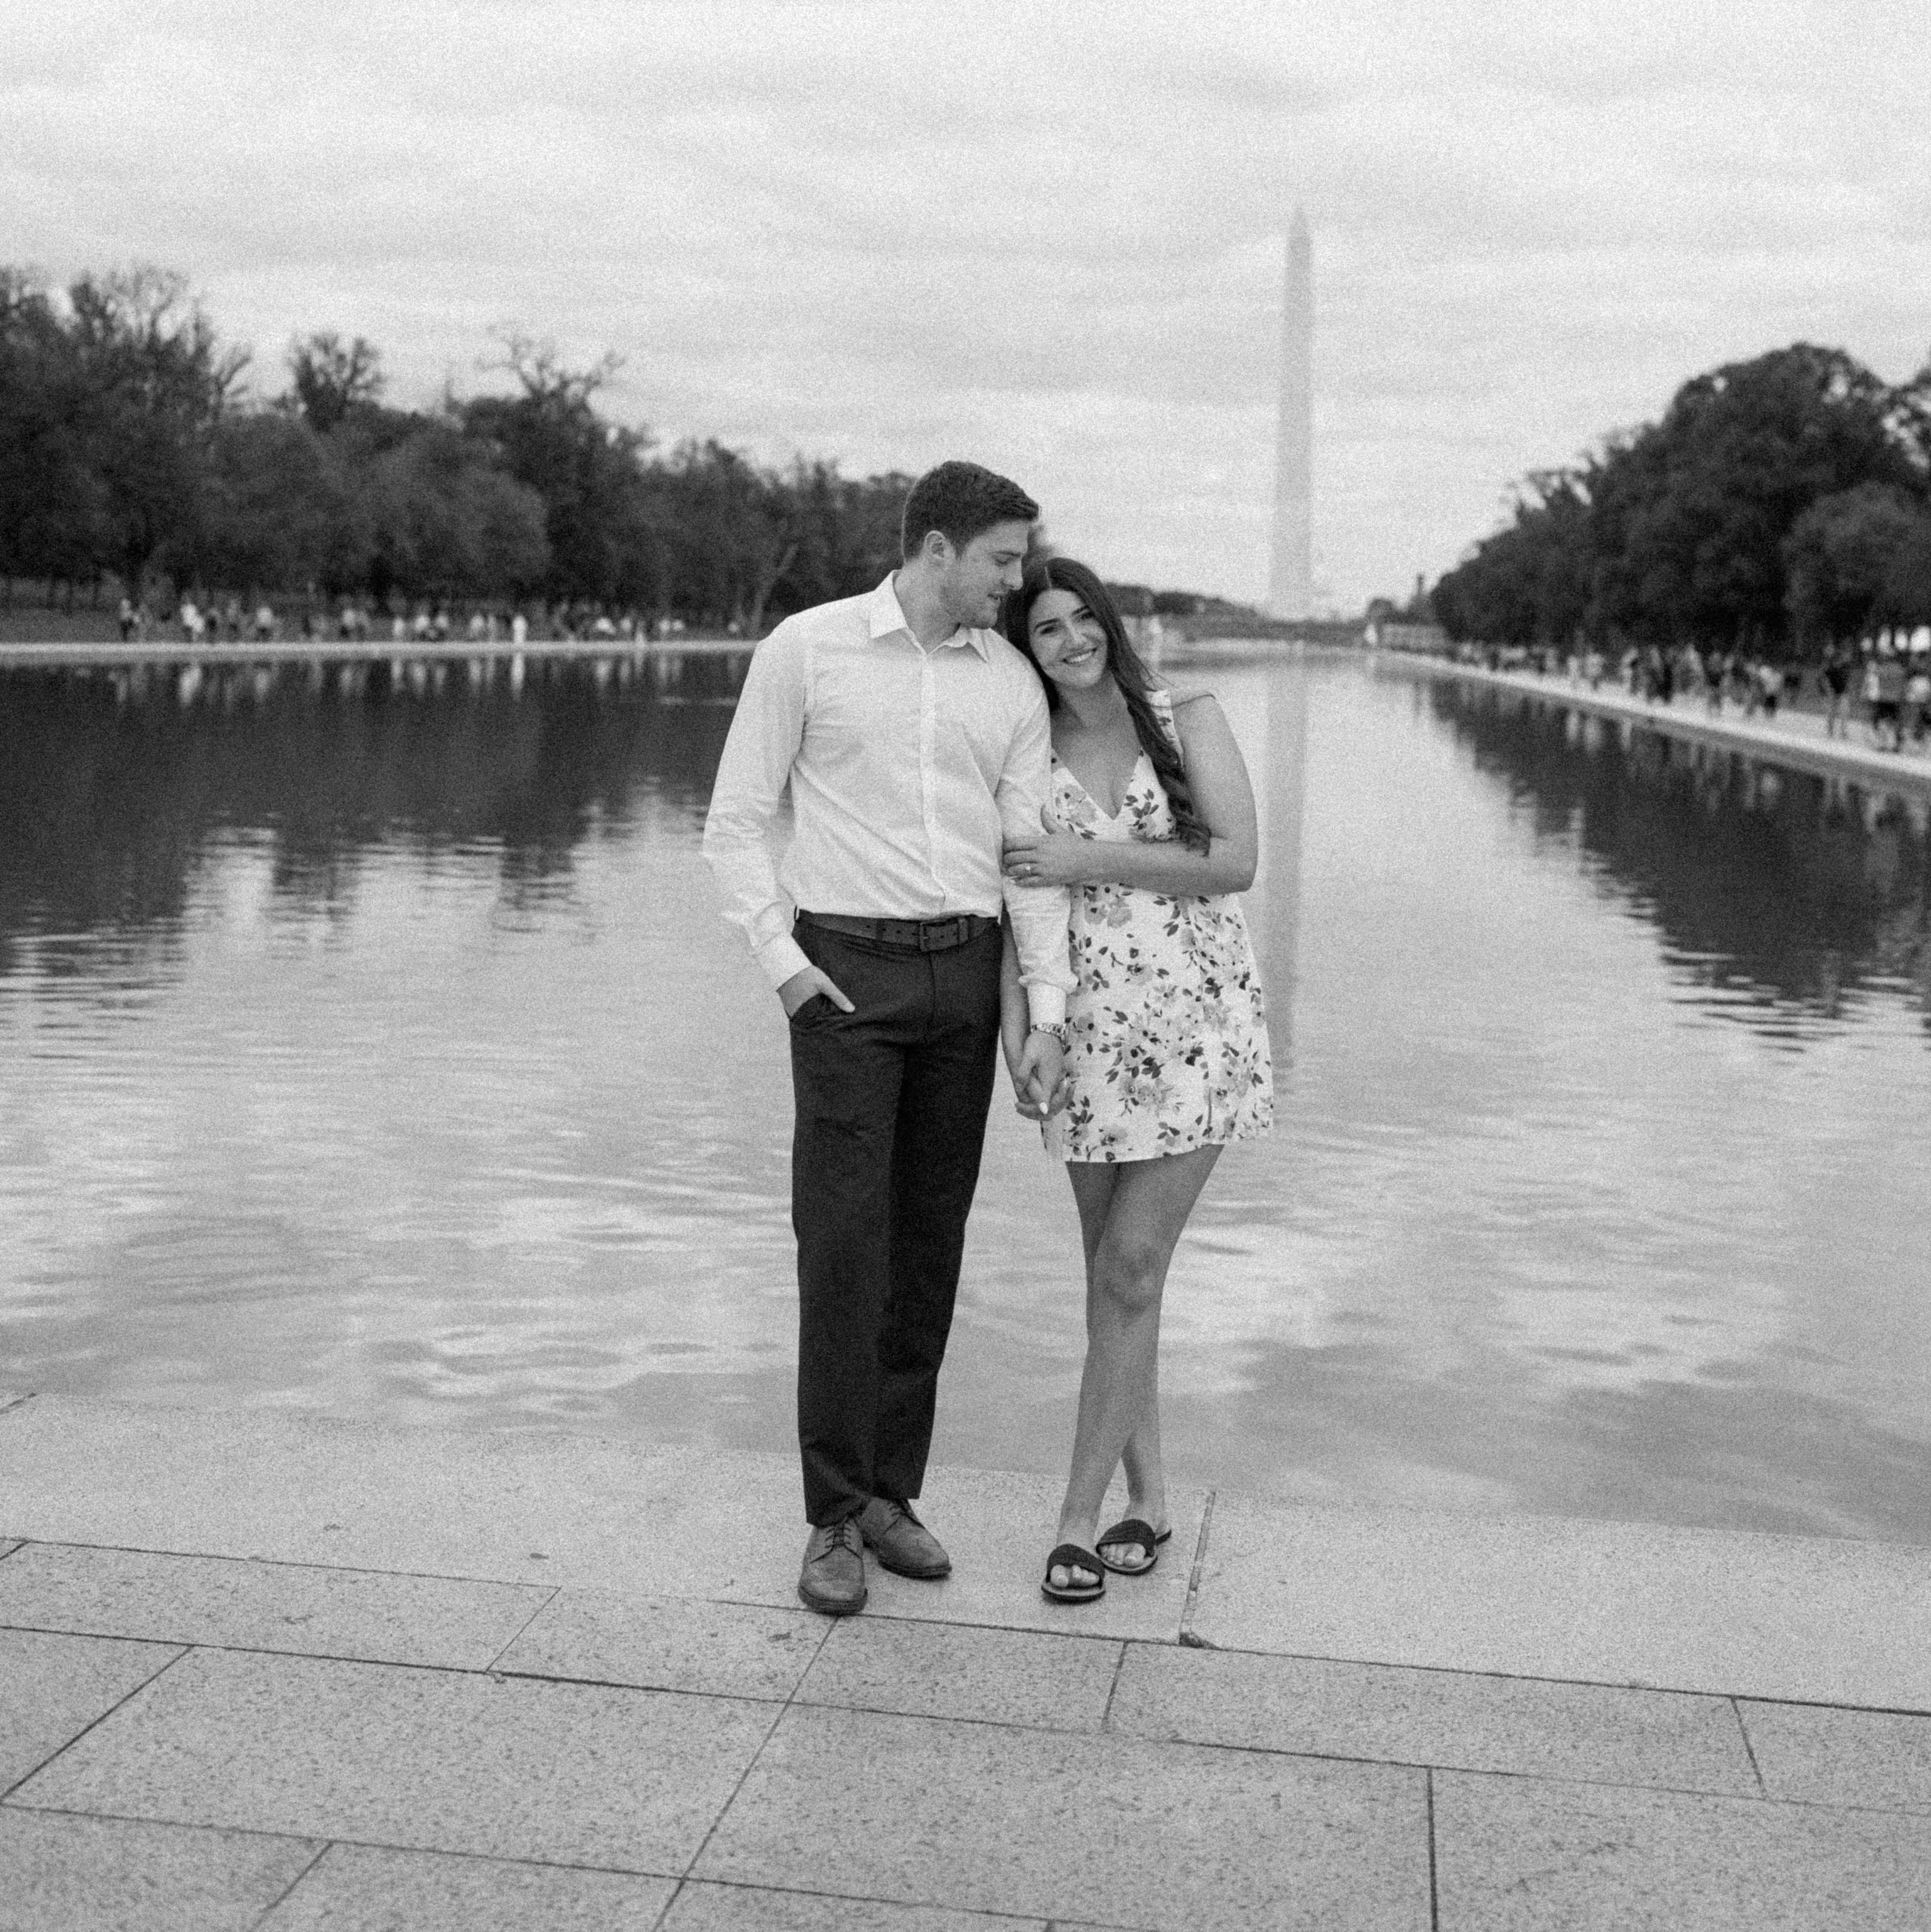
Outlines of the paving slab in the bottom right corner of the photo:
M 1439 1932 L 1923 1932 L 1931 1832 L 1887 1812 L 1435 1774 Z

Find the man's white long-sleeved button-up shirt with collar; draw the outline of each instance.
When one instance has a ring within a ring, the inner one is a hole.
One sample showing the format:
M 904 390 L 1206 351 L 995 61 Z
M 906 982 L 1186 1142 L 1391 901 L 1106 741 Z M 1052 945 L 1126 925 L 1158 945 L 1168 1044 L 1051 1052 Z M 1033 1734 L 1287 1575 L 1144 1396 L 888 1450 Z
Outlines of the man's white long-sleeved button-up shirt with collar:
M 1012 910 L 1029 1018 L 1066 1016 L 1064 887 L 1000 873 L 1004 837 L 1041 829 L 1047 697 L 991 630 L 927 649 L 886 578 L 788 616 L 753 653 L 711 790 L 705 858 L 772 985 L 803 972 L 792 908 L 865 920 Z M 782 871 L 765 842 L 786 786 Z

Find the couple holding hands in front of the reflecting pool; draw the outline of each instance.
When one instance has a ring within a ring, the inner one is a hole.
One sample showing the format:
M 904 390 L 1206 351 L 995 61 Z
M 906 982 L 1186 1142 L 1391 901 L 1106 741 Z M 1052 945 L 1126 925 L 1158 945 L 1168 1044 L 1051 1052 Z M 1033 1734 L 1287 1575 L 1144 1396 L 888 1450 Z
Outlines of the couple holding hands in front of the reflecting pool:
M 1228 896 L 1255 866 L 1240 752 L 1213 697 L 1149 678 L 1093 572 L 1029 554 L 1037 516 L 977 464 L 923 475 L 900 568 L 757 647 L 705 825 L 790 1022 L 798 1594 L 826 1615 L 865 1607 L 867 1549 L 904 1577 L 952 1569 L 911 1503 L 994 1045 L 1085 1244 L 1079 1420 L 1041 1584 L 1058 1602 L 1153 1569 L 1170 1534 L 1166 1264 L 1220 1148 L 1273 1111 Z M 780 885 L 765 837 L 786 788 Z M 1122 1463 L 1128 1517 L 1101 1530 Z

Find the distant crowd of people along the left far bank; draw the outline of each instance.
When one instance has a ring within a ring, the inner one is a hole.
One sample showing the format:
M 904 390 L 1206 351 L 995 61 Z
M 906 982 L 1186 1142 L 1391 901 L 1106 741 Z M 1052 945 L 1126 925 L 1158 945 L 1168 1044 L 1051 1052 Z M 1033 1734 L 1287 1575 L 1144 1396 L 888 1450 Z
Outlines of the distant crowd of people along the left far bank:
M 394 605 L 377 609 L 367 599 L 342 599 L 334 609 L 305 605 L 299 616 L 284 616 L 268 599 L 245 605 L 228 597 L 207 605 L 183 597 L 172 611 L 154 612 L 131 597 L 120 601 L 120 634 L 124 643 L 149 638 L 180 638 L 183 643 L 278 643 L 286 638 L 307 641 L 336 638 L 369 643 L 386 638 L 392 643 L 529 643 L 558 639 L 608 639 L 612 647 L 664 641 L 686 636 L 684 618 L 639 616 L 635 611 L 608 611 L 602 605 L 535 605 L 473 607 L 467 612 L 446 603 L 417 603 L 411 609 Z M 740 626 L 726 626 L 738 636 Z

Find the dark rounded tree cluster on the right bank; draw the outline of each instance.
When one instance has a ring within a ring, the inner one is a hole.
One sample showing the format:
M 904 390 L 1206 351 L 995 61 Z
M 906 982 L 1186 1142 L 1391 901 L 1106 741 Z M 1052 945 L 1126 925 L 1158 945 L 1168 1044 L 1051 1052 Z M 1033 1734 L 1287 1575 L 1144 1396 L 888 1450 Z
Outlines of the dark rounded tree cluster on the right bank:
M 1516 489 L 1435 585 L 1456 639 L 1805 655 L 1931 622 L 1931 361 L 1900 386 L 1798 342 Z

